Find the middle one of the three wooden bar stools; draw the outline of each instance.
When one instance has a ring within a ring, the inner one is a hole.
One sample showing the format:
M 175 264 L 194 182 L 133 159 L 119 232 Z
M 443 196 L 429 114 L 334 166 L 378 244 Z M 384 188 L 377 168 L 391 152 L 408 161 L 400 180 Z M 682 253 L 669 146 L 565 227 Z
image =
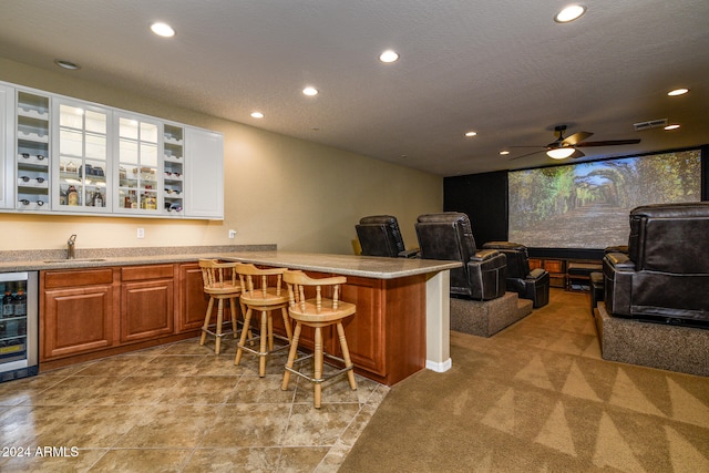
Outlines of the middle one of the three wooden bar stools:
M 254 311 L 261 312 L 260 331 L 257 337 L 250 337 L 247 339 L 247 331 L 242 331 L 242 338 L 239 340 L 238 348 L 236 350 L 236 358 L 234 364 L 239 364 L 242 361 L 242 354 L 244 350 L 249 353 L 254 353 L 259 357 L 258 360 L 258 376 L 266 376 L 266 357 L 274 351 L 281 350 L 290 346 L 292 339 L 292 328 L 290 327 L 290 319 L 288 318 L 288 294 L 281 289 L 281 280 L 286 268 L 268 268 L 259 269 L 250 264 L 242 264 L 237 266 L 236 271 L 239 275 L 239 281 L 242 284 L 242 302 L 246 306 L 246 315 L 244 317 L 244 327 L 249 327 L 251 323 L 251 316 Z M 275 286 L 268 286 L 268 277 L 276 276 Z M 271 312 L 280 309 L 284 325 L 286 326 L 286 335 L 288 338 L 274 333 L 274 319 Z M 277 338 L 285 341 L 286 345 L 275 348 L 274 339 Z M 246 346 L 254 345 L 254 341 L 259 340 L 259 350 L 254 350 Z

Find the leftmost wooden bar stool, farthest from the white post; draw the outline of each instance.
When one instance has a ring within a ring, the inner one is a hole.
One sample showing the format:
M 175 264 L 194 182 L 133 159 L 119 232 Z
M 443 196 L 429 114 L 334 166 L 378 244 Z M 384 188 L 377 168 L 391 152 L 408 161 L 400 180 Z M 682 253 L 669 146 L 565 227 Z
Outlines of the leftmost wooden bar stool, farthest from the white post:
M 216 259 L 199 259 L 199 268 L 202 269 L 202 280 L 204 282 L 204 292 L 209 295 L 209 304 L 207 305 L 207 313 L 202 326 L 202 337 L 199 346 L 204 346 L 207 333 L 214 336 L 214 352 L 219 354 L 222 348 L 222 337 L 234 333 L 237 337 L 237 317 L 236 299 L 242 294 L 242 285 L 237 280 L 236 266 L 238 263 L 219 263 Z M 217 301 L 217 320 L 212 325 L 212 309 L 214 301 Z M 224 300 L 229 301 L 229 317 L 232 319 L 232 330 L 223 331 L 224 321 Z

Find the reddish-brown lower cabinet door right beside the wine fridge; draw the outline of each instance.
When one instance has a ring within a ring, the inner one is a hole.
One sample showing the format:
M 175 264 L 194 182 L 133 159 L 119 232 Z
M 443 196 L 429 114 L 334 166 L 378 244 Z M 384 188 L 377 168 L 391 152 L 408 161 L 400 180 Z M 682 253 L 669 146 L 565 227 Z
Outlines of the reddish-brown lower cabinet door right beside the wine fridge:
M 45 290 L 40 315 L 40 360 L 111 347 L 113 287 Z

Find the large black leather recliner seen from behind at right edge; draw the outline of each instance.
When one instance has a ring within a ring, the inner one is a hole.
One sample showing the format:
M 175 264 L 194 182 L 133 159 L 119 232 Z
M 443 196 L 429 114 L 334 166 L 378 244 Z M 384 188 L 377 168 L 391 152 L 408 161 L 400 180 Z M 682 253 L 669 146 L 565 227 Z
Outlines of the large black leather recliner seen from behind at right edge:
M 628 253 L 603 260 L 606 310 L 709 328 L 709 203 L 647 205 L 630 212 Z

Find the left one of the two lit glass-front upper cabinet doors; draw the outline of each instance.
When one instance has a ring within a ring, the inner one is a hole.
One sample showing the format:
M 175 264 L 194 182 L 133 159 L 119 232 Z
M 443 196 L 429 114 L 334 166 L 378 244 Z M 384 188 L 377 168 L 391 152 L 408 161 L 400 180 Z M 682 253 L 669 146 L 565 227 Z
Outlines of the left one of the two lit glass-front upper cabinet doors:
M 110 112 L 81 102 L 59 101 L 59 178 L 52 186 L 56 208 L 65 212 L 110 212 L 106 177 Z

